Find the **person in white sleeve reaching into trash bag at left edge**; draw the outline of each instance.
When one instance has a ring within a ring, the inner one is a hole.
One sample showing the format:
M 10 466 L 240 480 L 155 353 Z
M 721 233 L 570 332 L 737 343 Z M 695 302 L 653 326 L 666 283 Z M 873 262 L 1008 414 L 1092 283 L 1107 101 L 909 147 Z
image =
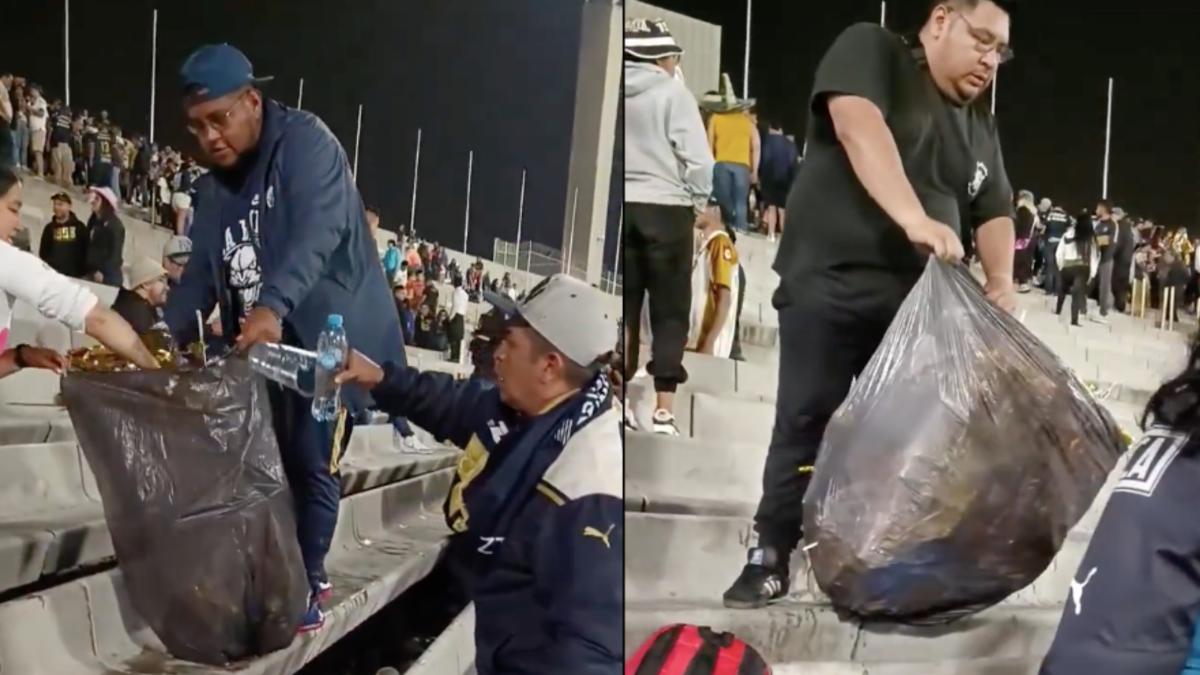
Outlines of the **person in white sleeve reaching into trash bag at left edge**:
M 95 293 L 12 245 L 20 229 L 20 180 L 12 169 L 0 167 L 0 377 L 24 368 L 58 374 L 67 368 L 62 354 L 53 350 L 10 344 L 17 300 L 37 307 L 47 318 L 91 335 L 143 369 L 157 369 L 158 363 L 130 324 L 101 305 Z

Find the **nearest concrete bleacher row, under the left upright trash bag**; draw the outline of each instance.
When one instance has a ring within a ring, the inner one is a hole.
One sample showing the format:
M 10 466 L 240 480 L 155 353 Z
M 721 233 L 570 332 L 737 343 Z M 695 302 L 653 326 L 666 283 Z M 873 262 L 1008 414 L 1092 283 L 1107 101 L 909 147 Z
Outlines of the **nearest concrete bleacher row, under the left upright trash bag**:
M 433 568 L 448 534 L 439 504 L 450 474 L 342 501 L 326 561 L 331 611 L 324 628 L 281 651 L 222 668 L 178 661 L 138 617 L 120 571 L 112 569 L 0 604 L 0 663 L 22 675 L 295 673 Z

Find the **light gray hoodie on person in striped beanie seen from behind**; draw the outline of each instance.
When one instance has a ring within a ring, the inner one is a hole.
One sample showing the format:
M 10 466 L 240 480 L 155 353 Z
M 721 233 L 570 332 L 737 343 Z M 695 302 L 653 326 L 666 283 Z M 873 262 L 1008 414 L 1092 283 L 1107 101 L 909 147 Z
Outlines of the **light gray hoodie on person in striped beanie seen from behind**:
M 700 106 L 654 64 L 625 64 L 625 202 L 701 209 L 713 151 Z

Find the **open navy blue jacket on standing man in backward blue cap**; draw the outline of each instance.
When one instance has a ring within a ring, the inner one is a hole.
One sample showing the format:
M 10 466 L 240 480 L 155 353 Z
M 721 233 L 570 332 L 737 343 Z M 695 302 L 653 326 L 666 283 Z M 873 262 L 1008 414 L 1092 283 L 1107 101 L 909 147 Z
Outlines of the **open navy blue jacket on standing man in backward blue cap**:
M 283 319 L 284 342 L 316 350 L 330 313 L 341 313 L 349 342 L 376 363 L 404 363 L 388 281 L 346 153 L 316 115 L 275 101 L 263 106 L 263 133 L 244 180 L 262 180 L 258 305 Z M 252 186 L 253 187 L 253 186 Z M 226 340 L 239 333 L 224 263 L 222 208 L 240 186 L 210 173 L 197 185 L 192 256 L 164 310 L 180 345 L 196 340 L 196 311 L 221 307 Z

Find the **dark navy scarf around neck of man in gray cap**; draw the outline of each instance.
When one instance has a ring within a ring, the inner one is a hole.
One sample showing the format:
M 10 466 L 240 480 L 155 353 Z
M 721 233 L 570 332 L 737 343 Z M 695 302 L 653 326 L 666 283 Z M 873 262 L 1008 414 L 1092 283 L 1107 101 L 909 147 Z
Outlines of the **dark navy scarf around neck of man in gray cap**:
M 528 422 L 486 483 L 464 495 L 473 537 L 504 537 L 572 436 L 612 408 L 605 372 L 553 410 Z

